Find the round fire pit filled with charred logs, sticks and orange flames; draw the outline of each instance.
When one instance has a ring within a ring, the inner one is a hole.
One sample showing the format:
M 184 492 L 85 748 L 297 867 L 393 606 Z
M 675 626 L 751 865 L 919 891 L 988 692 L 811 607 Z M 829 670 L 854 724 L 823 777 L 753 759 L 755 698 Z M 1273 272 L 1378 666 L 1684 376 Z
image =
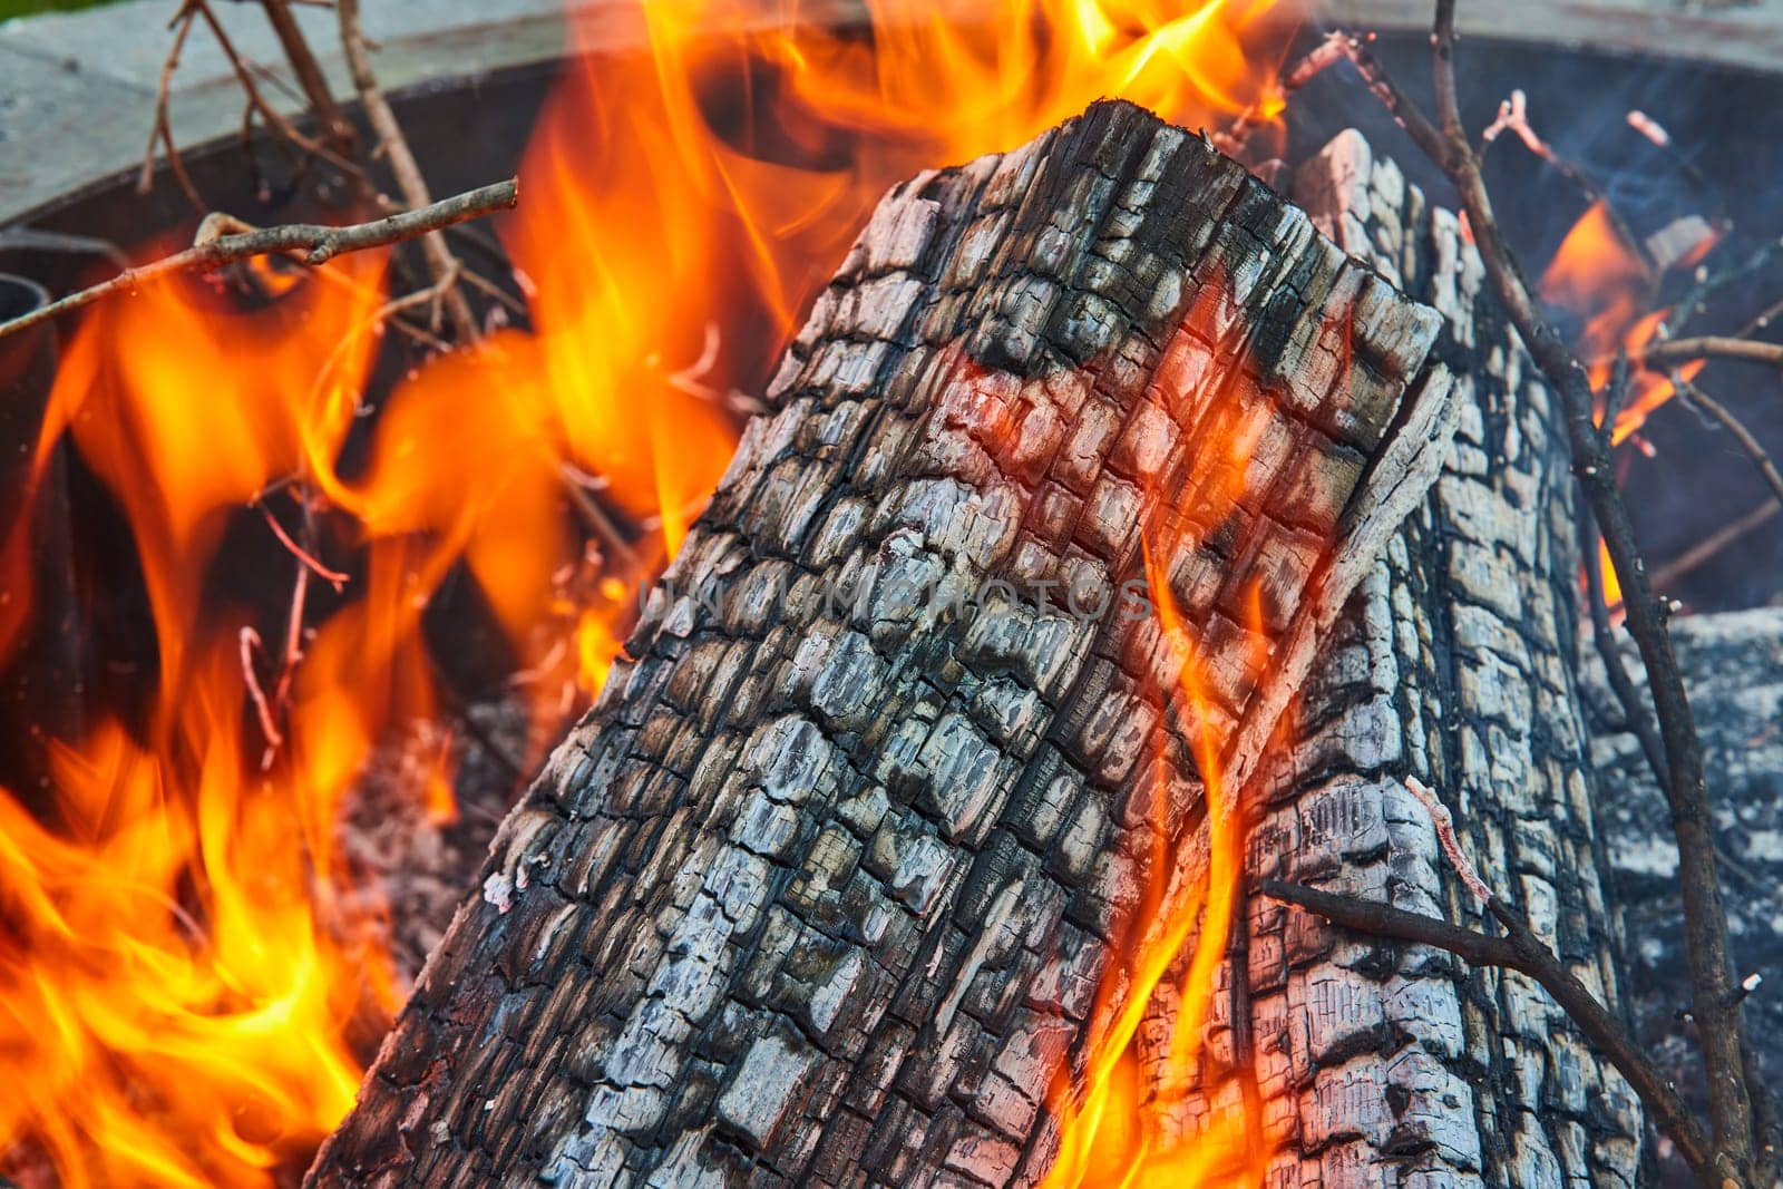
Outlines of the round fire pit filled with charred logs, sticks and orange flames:
M 1573 390 L 1464 162 L 1355 82 L 1430 109 L 1428 36 L 1266 7 L 653 9 L 653 53 L 608 14 L 385 102 L 346 4 L 339 125 L 0 239 L 57 296 L 107 242 L 221 244 L 55 323 L 53 380 L 41 333 L 0 371 L 0 1169 L 1767 1184 L 1772 1011 L 1747 1150 L 1722 1080 L 1667 1086 L 1726 1071 L 1758 984 L 1705 957 L 1717 845 L 1651 808 L 1678 674 L 1655 713 L 1621 617 L 1778 588 L 1738 444 L 1783 424 L 1697 380 L 1765 357 L 1667 346 L 1767 339 L 1724 114 L 1762 139 L 1771 84 L 1466 43 Z M 514 214 L 440 230 L 512 171 Z M 291 223 L 378 244 L 230 255 Z M 1678 606 L 1623 606 L 1617 483 Z M 1712 775 L 1760 763 L 1692 654 Z M 1655 847 L 1689 947 L 1621 931 L 1674 911 L 1630 882 Z

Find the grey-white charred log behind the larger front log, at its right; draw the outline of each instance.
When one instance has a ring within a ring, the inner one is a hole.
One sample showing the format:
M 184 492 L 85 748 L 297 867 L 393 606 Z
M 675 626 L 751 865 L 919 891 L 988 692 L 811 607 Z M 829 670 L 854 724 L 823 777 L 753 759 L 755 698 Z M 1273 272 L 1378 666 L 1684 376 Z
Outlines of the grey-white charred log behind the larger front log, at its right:
M 1496 932 L 1405 790 L 1417 775 L 1498 895 L 1614 1005 L 1560 410 L 1457 217 L 1398 166 L 1348 132 L 1296 171 L 1294 193 L 1344 250 L 1444 314 L 1434 353 L 1457 374 L 1460 430 L 1309 683 L 1289 775 L 1255 811 L 1250 866 Z M 1245 947 L 1271 1185 L 1635 1184 L 1639 1102 L 1533 980 L 1268 900 L 1250 904 Z M 1179 1103 L 1184 1130 L 1236 1098 L 1230 1004 L 1216 998 L 1227 1014 L 1209 1023 L 1200 1070 L 1154 1062 L 1154 1093 Z M 1152 1014 L 1155 1052 L 1170 1005 Z

